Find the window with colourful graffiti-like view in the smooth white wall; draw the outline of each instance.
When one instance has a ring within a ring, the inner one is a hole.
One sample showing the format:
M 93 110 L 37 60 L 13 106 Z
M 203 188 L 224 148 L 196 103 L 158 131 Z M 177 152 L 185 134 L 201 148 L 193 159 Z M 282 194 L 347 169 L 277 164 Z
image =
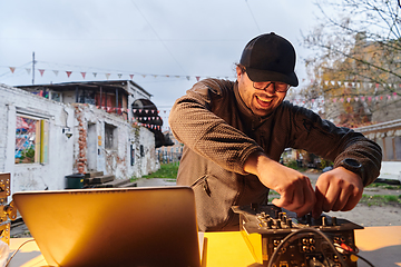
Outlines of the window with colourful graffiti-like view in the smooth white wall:
M 49 159 L 49 121 L 17 115 L 16 164 L 46 164 Z

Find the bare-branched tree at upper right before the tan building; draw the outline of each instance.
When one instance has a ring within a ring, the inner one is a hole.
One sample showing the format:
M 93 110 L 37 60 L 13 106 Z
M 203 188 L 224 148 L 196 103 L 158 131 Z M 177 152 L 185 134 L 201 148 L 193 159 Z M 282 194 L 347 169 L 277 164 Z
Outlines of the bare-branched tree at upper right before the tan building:
M 401 111 L 399 1 L 316 0 L 320 23 L 303 34 L 314 51 L 305 60 L 313 82 L 304 95 L 325 99 L 325 116 L 360 126 L 392 119 Z

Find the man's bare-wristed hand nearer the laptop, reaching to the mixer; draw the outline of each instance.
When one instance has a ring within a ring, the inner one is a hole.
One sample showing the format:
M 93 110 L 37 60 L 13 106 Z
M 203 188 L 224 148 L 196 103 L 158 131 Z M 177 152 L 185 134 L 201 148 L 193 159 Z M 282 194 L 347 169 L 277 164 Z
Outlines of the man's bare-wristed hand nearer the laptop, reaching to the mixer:
M 300 171 L 285 167 L 264 154 L 253 154 L 245 161 L 244 170 L 256 175 L 261 182 L 281 195 L 273 199 L 277 207 L 304 216 L 316 202 L 315 192 L 310 179 Z

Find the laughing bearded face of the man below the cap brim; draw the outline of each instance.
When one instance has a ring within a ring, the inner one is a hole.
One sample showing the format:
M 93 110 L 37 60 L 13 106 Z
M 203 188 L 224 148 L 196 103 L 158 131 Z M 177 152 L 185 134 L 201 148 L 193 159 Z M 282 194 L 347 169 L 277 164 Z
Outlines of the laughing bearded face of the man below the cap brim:
M 245 105 L 256 116 L 266 116 L 271 113 L 284 100 L 286 92 L 275 91 L 272 83 L 264 90 L 255 89 L 253 81 L 241 68 L 236 68 L 238 91 Z

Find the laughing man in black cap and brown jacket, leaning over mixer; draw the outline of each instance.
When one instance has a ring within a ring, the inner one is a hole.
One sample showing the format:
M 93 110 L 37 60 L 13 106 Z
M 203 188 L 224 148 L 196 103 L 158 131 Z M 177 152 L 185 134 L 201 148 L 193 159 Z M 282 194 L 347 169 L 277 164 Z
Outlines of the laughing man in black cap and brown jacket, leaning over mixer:
M 185 145 L 177 185 L 195 192 L 199 230 L 238 230 L 232 206 L 267 202 L 303 216 L 351 210 L 378 176 L 381 149 L 311 110 L 283 101 L 299 85 L 295 50 L 284 38 L 251 40 L 236 82 L 206 79 L 177 99 L 169 125 Z M 310 179 L 277 161 L 285 148 L 305 149 L 334 161 L 313 190 Z

